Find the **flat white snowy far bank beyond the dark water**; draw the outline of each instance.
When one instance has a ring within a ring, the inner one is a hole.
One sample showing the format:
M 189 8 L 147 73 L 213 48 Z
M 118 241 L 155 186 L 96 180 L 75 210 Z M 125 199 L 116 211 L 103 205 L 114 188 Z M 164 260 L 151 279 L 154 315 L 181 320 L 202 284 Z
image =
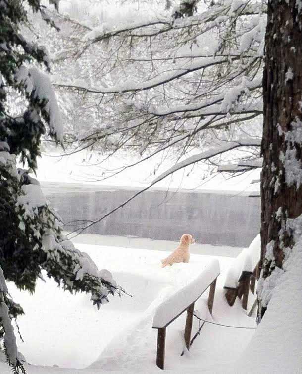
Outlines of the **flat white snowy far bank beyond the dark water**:
M 245 140 L 246 141 L 246 140 Z M 258 143 L 260 144 L 259 140 Z M 249 144 L 247 144 L 249 145 Z M 154 156 L 152 159 L 142 162 L 132 168 L 125 169 L 122 173 L 112 176 L 109 179 L 102 180 L 100 173 L 100 156 L 98 152 L 88 150 L 77 152 L 72 155 L 61 157 L 62 152 L 57 151 L 54 154 L 42 155 L 38 159 L 37 176 L 39 181 L 60 182 L 60 183 L 82 183 L 82 188 L 89 187 L 88 184 L 94 183 L 96 186 L 128 186 L 146 187 L 154 175 L 150 176 L 150 171 L 156 171 L 155 175 L 160 175 L 163 171 L 173 165 L 173 161 L 162 155 Z M 134 163 L 136 160 L 129 154 L 120 153 L 111 157 L 110 161 L 102 162 L 104 170 L 120 169 L 121 166 Z M 180 160 L 182 161 L 182 159 Z M 158 164 L 161 166 L 157 168 Z M 89 166 L 89 169 L 88 169 Z M 234 178 L 225 178 L 218 174 L 213 178 L 202 179 L 201 176 L 206 172 L 206 166 L 203 164 L 191 170 L 191 167 L 180 170 L 173 174 L 173 178 L 166 178 L 157 183 L 155 187 L 159 188 L 177 188 L 189 190 L 216 190 L 216 191 L 255 191 L 259 186 L 250 185 L 252 179 L 259 178 L 259 170 L 247 172 L 244 176 L 240 175 Z M 183 172 L 188 174 L 183 178 Z

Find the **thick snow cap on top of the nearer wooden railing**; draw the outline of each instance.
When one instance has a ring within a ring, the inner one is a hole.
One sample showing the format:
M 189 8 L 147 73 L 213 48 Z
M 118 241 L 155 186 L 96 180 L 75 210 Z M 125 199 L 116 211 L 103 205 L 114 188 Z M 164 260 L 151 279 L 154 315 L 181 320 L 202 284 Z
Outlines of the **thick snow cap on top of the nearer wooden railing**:
M 189 305 L 195 302 L 220 273 L 217 259 L 213 259 L 194 281 L 167 298 L 157 308 L 152 328 L 163 328 Z

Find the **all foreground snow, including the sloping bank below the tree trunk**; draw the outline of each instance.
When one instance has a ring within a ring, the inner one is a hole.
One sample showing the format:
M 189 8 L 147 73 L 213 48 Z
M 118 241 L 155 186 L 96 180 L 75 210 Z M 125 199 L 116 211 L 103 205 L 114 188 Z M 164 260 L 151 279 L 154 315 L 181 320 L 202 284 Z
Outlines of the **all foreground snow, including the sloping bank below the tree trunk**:
M 194 281 L 213 258 L 218 259 L 221 268 L 213 314 L 206 306 L 206 292 L 195 304 L 198 315 L 223 325 L 255 327 L 255 316 L 247 316 L 239 299 L 230 307 L 224 297 L 223 285 L 227 269 L 234 261 L 232 257 L 192 254 L 188 264 L 161 268 L 159 260 L 166 255 L 164 251 L 90 244 L 89 241 L 96 242 L 96 235 L 82 235 L 78 241 L 82 244 L 78 242 L 76 246 L 87 252 L 99 268 L 110 269 L 132 297 L 111 298 L 98 311 L 86 295 L 63 292 L 49 279 L 38 281 L 34 295 L 9 283 L 9 291 L 26 312 L 19 318 L 25 343 L 19 339 L 18 346 L 33 364 L 25 365 L 29 374 L 161 373 L 155 363 L 157 334 L 151 328 L 156 306 Z M 277 280 L 278 292 L 273 294 L 256 330 L 205 323 L 190 352 L 180 356 L 184 348 L 185 314 L 169 325 L 166 372 L 302 373 L 301 247 L 298 243 L 294 248 L 285 273 Z M 220 247 L 215 252 L 223 250 Z M 252 302 L 250 293 L 248 309 Z M 194 318 L 192 335 L 197 329 L 198 321 Z M 11 373 L 1 360 L 0 373 Z

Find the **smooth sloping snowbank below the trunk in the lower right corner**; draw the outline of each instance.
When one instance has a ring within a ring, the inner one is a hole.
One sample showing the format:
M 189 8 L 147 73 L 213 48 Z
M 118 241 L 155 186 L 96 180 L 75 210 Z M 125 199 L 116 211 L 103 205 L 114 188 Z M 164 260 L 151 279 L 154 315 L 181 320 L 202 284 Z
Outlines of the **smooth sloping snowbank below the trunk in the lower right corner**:
M 294 246 L 284 269 L 236 373 L 302 371 L 302 241 Z

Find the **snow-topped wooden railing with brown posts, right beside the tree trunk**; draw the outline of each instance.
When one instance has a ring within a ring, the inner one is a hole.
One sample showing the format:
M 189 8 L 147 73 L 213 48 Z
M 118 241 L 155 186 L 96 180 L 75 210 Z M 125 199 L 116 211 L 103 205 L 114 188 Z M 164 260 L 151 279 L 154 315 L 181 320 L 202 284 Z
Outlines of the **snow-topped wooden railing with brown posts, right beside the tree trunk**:
M 242 307 L 247 309 L 249 289 L 255 290 L 255 280 L 259 278 L 258 263 L 261 253 L 261 240 L 258 234 L 250 244 L 236 257 L 233 265 L 229 268 L 224 287 L 227 291 L 225 297 L 230 306 L 236 297 L 242 298 Z

